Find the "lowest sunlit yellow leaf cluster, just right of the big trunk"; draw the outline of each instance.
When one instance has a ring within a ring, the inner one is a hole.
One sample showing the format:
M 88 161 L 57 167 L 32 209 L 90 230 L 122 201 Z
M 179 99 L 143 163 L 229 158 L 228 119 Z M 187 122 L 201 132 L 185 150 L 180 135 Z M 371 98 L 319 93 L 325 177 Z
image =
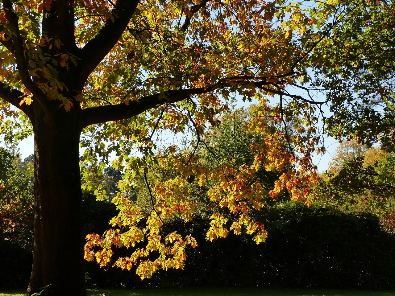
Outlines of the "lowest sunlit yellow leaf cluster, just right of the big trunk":
M 127 270 L 137 266 L 136 273 L 141 279 L 150 277 L 158 269 L 184 268 L 185 249 L 188 246 L 196 247 L 197 245 L 192 236 L 182 237 L 177 232 L 172 232 L 162 237 L 159 234 L 159 229 L 163 220 L 156 215 L 156 212 L 150 215 L 146 227 L 139 227 L 141 209 L 133 206 L 124 197 L 117 197 L 114 202 L 120 209 L 120 214 L 114 217 L 111 223 L 113 226 L 123 226 L 122 231 L 120 229 L 109 229 L 102 237 L 97 234 L 89 234 L 84 247 L 86 260 L 96 259 L 100 266 L 107 266 L 112 262 L 112 245 L 129 248 L 143 242 L 145 247 L 135 248 L 130 257 L 119 258 L 112 265 Z M 159 257 L 151 260 L 149 255 L 154 251 L 158 252 Z

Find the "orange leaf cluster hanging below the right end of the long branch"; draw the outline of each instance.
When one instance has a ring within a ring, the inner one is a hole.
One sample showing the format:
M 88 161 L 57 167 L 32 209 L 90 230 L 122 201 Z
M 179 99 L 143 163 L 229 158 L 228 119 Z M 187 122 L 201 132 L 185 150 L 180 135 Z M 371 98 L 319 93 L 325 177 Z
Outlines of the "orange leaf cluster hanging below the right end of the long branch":
M 303 105 L 303 108 L 307 107 Z M 269 116 L 273 119 L 271 125 L 271 121 L 263 120 L 264 117 L 267 118 L 269 111 Z M 278 106 L 272 110 L 264 104 L 255 107 L 250 130 L 265 135 L 265 141 L 254 144 L 252 149 L 259 155 L 266 156 L 266 170 L 283 172 L 269 192 L 271 197 L 276 198 L 281 191 L 287 189 L 292 194 L 292 200 L 309 204 L 310 187 L 319 182 L 317 168 L 311 158 L 317 149 L 318 141 L 316 136 L 312 136 L 316 132 L 312 127 L 315 121 L 314 118 L 305 121 L 297 119 L 292 124 L 287 124 L 283 122 Z M 278 125 L 280 123 L 284 125 Z M 303 124 L 308 127 L 304 127 Z M 291 167 L 286 168 L 289 165 Z

